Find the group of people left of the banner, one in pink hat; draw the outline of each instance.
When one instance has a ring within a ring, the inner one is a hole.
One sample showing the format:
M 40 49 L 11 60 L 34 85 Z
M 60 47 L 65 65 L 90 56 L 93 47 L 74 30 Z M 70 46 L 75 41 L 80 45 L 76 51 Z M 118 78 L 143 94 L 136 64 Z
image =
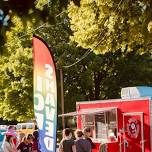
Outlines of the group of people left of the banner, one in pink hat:
M 3 152 L 40 152 L 38 138 L 38 131 L 18 138 L 15 127 L 9 126 L 5 132 L 2 150 Z

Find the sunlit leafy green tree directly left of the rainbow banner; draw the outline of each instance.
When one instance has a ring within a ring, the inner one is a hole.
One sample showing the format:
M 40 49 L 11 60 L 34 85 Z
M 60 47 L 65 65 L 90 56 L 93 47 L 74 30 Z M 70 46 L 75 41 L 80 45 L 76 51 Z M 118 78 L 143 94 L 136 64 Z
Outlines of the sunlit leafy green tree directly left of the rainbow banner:
M 25 25 L 21 18 L 14 15 L 12 23 L 14 27 L 6 33 L 7 51 L 5 50 L 0 64 L 0 117 L 23 121 L 34 117 L 31 35 L 25 31 L 30 33 L 35 20 L 27 21 Z

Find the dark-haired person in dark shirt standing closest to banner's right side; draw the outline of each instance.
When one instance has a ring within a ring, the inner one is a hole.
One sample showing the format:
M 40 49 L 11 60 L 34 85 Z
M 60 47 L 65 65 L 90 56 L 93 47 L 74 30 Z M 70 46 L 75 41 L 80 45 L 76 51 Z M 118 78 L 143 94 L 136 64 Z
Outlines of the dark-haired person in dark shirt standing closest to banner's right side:
M 76 146 L 72 139 L 72 131 L 70 128 L 63 130 L 63 139 L 59 144 L 59 152 L 76 152 Z

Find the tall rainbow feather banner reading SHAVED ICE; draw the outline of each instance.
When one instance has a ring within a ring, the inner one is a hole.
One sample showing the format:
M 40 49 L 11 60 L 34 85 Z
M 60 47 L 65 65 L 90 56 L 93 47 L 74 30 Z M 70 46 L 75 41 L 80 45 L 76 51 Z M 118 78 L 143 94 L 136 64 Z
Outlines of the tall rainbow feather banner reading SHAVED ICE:
M 48 45 L 33 36 L 34 113 L 41 152 L 56 152 L 57 82 L 56 68 Z

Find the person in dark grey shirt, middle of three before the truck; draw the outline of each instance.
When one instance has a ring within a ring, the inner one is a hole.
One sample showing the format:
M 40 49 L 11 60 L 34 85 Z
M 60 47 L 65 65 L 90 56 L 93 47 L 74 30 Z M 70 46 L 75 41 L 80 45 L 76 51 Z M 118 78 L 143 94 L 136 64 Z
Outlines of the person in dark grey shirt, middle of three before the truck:
M 83 132 L 81 130 L 76 130 L 75 132 L 76 140 L 76 151 L 77 152 L 91 152 L 91 144 L 88 140 L 83 138 Z

